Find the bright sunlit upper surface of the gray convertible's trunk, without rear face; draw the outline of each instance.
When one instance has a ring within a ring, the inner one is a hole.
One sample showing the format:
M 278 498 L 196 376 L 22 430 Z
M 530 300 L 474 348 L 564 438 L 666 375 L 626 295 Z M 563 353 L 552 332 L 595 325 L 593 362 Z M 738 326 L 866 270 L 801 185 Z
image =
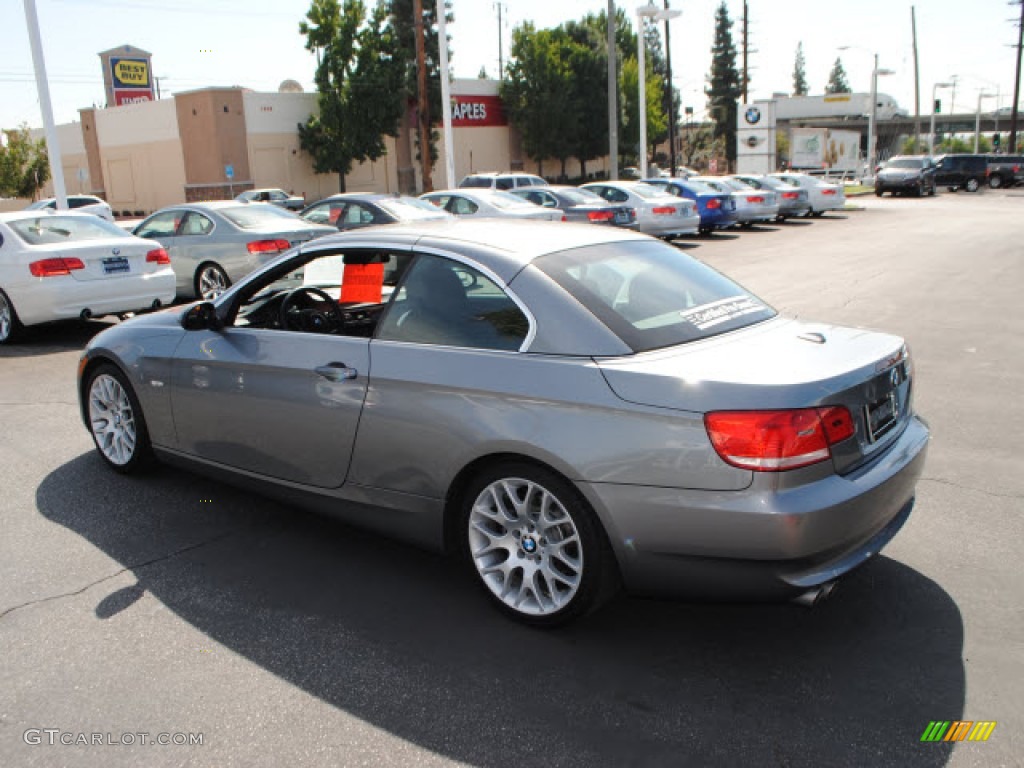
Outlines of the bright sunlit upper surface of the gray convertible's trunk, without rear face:
M 902 346 L 897 336 L 775 317 L 703 341 L 596 361 L 624 400 L 706 413 L 845 401 Z

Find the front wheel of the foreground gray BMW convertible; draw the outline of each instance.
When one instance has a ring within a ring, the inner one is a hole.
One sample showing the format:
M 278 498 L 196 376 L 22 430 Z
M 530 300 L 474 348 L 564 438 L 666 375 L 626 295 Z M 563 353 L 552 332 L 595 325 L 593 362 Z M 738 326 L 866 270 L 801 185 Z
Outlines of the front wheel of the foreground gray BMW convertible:
M 125 474 L 147 467 L 153 446 L 142 408 L 127 377 L 112 365 L 98 366 L 89 375 L 85 391 L 89 431 L 103 461 Z

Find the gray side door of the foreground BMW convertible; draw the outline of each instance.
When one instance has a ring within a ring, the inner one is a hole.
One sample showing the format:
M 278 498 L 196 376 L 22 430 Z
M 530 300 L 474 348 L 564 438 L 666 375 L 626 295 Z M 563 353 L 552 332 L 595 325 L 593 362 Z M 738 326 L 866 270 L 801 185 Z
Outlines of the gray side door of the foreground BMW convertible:
M 325 263 L 335 264 L 332 282 L 340 286 L 337 251 L 321 253 L 314 259 L 334 260 Z M 297 255 L 273 274 L 285 283 L 300 266 L 312 271 L 302 263 L 311 260 Z M 324 270 L 316 273 L 326 286 Z M 234 300 L 256 302 L 269 283 L 247 284 Z M 247 327 L 230 319 L 230 309 L 225 316 L 223 328 L 190 331 L 175 350 L 171 408 L 179 450 L 279 480 L 342 485 L 367 394 L 369 338 Z

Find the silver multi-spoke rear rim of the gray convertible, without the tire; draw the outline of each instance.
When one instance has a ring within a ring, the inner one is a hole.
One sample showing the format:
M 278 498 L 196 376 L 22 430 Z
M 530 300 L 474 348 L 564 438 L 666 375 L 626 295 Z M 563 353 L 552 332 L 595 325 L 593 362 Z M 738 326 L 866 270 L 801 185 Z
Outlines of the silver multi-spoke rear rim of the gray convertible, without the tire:
M 487 589 L 528 616 L 565 609 L 584 577 L 584 545 L 565 505 L 522 477 L 497 479 L 469 513 L 469 552 Z

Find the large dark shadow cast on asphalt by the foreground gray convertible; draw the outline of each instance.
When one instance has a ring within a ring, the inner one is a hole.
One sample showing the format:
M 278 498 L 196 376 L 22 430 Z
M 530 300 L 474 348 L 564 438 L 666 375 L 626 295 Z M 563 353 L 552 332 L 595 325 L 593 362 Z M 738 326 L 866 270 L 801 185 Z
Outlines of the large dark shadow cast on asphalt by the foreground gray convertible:
M 76 493 L 69 493 L 75 488 Z M 452 561 L 163 468 L 91 454 L 41 513 L 288 683 L 478 766 L 942 766 L 963 713 L 964 627 L 941 587 L 881 557 L 814 610 L 621 598 L 557 632 L 502 617 Z M 154 681 L 160 685 L 160 681 Z

